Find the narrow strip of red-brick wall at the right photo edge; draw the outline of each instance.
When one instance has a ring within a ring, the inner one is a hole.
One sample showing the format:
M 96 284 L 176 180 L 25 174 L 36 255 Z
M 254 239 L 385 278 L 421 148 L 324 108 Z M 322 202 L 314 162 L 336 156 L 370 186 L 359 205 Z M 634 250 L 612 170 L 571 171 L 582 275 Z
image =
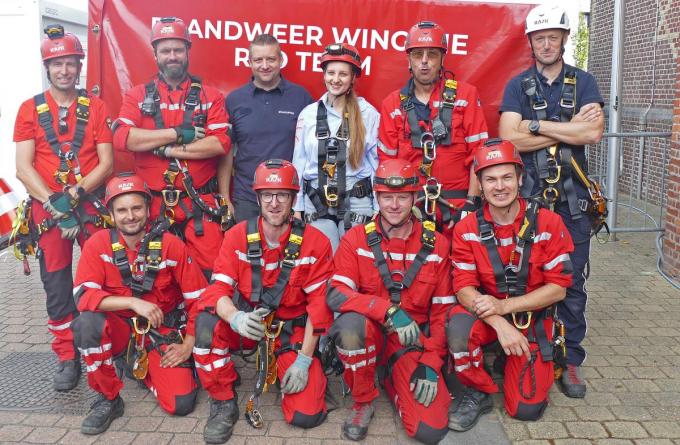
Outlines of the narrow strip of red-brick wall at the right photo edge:
M 675 102 L 673 111 L 673 136 L 670 144 L 668 166 L 668 191 L 666 233 L 663 245 L 664 271 L 680 279 L 680 57 L 677 59 L 675 77 Z

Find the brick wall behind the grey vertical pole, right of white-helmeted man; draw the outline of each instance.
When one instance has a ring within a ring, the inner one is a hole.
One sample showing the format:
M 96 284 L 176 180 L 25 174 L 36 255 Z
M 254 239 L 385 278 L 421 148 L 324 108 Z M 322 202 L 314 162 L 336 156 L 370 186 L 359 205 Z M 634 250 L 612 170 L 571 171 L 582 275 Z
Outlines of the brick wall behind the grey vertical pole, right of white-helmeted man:
M 624 69 L 621 97 L 622 131 L 670 131 L 675 98 L 680 7 L 677 0 L 659 1 L 659 31 L 654 40 L 657 0 L 626 0 L 624 24 Z M 609 104 L 614 0 L 592 0 L 589 71 L 595 75 Z M 656 69 L 653 54 L 656 45 Z M 654 74 L 655 72 L 655 74 Z M 652 79 L 655 79 L 652 82 Z M 652 95 L 653 83 L 656 86 Z M 653 97 L 653 103 L 652 102 Z M 643 123 L 645 111 L 647 125 Z M 665 185 L 670 141 L 626 138 L 622 144 L 623 170 L 619 191 L 659 204 Z M 606 141 L 591 147 L 590 168 L 604 174 Z M 642 155 L 640 154 L 642 152 Z M 664 162 L 664 154 L 666 155 Z

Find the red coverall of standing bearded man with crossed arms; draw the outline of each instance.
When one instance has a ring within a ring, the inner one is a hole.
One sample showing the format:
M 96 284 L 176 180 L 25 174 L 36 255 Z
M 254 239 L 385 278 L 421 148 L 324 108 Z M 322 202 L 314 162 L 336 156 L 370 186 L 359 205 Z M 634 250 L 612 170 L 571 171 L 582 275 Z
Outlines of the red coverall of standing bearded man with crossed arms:
M 163 123 L 166 128 L 182 125 L 184 120 L 184 100 L 189 91 L 190 79 L 182 82 L 176 89 L 171 90 L 169 85 L 162 79 L 156 79 L 158 95 L 160 97 L 160 110 Z M 114 147 L 116 150 L 125 150 L 127 138 L 131 127 L 155 129 L 156 123 L 153 116 L 142 114 L 142 102 L 146 90 L 144 85 L 137 85 L 125 94 L 123 104 L 120 108 L 120 116 L 116 120 L 114 132 Z M 229 136 L 227 136 L 227 125 L 229 119 L 224 107 L 224 96 L 216 88 L 206 85 L 202 86 L 200 94 L 200 104 L 194 110 L 194 116 L 205 114 L 207 117 L 205 126 L 205 136 L 216 136 L 222 146 L 224 153 L 228 153 L 231 147 Z M 151 202 L 151 220 L 160 216 L 162 198 L 160 191 L 166 187 L 163 180 L 163 173 L 168 168 L 168 159 L 158 157 L 152 151 L 135 152 L 135 173 L 148 184 L 154 199 Z M 181 160 L 182 165 L 186 165 L 193 178 L 193 185 L 198 190 L 205 186 L 208 181 L 217 174 L 217 163 L 219 156 L 208 159 Z M 174 186 L 176 189 L 184 191 L 182 183 L 183 174 L 180 172 L 175 178 Z M 216 207 L 218 203 L 213 194 L 203 193 L 201 198 L 211 207 Z M 181 227 L 185 224 L 187 212 L 193 213 L 194 205 L 191 199 L 184 195 L 180 203 L 175 206 L 174 219 Z M 189 216 L 191 217 L 191 215 Z M 214 247 L 222 241 L 222 230 L 220 224 L 208 218 L 205 214 L 202 219 L 203 235 L 196 233 L 196 220 L 192 218 L 184 226 L 184 241 L 189 248 L 192 258 L 210 276 L 213 263 L 217 257 L 217 249 Z

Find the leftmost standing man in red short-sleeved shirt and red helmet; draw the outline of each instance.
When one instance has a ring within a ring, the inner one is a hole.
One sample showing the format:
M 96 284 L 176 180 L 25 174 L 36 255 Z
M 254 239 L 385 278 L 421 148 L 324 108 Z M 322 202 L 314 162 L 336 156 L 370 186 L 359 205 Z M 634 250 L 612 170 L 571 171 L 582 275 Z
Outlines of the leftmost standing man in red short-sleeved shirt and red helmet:
M 50 87 L 25 101 L 14 127 L 17 178 L 30 196 L 40 278 L 47 294 L 47 327 L 59 366 L 54 389 L 74 388 L 80 358 L 73 346 L 73 240 L 82 246 L 108 219 L 99 201 L 113 171 L 106 106 L 78 79 L 85 57 L 78 38 L 60 25 L 45 28 L 40 46 Z M 31 241 L 33 242 L 33 241 Z

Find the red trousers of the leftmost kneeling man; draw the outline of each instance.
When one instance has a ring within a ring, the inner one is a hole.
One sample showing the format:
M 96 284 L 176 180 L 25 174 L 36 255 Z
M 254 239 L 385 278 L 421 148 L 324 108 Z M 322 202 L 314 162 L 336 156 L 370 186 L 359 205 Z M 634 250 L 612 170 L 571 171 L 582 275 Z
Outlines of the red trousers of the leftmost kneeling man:
M 170 330 L 161 327 L 160 332 Z M 74 341 L 87 368 L 90 387 L 113 400 L 123 382 L 116 375 L 113 357 L 124 355 L 130 339 L 130 326 L 113 313 L 83 312 L 73 321 Z M 150 340 L 147 336 L 147 343 Z M 198 387 L 191 368 L 161 368 L 160 353 L 154 348 L 148 353 L 149 372 L 144 384 L 156 396 L 158 403 L 170 414 L 186 415 L 193 411 Z

